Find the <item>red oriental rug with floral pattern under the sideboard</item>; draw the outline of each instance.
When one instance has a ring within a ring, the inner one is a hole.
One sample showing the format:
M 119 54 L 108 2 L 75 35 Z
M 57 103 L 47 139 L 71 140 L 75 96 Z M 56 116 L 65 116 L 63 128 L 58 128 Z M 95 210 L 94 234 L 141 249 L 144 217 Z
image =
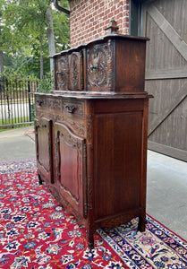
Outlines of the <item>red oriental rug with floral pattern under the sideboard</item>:
M 187 268 L 187 242 L 147 215 L 113 230 L 87 233 L 38 185 L 35 160 L 0 163 L 0 268 Z

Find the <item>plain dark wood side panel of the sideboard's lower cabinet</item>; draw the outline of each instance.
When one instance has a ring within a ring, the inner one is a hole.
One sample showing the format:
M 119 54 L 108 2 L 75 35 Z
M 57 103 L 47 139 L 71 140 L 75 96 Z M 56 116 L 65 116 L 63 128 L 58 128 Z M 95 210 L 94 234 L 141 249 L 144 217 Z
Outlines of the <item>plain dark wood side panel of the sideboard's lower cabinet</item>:
M 140 208 L 142 112 L 95 120 L 95 219 Z

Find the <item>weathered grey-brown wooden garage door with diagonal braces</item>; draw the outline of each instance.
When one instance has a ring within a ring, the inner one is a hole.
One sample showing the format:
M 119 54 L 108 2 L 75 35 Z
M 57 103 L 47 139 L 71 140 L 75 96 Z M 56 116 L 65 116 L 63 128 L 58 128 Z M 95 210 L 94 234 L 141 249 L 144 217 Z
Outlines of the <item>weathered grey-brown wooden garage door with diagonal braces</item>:
M 187 1 L 143 4 L 149 149 L 187 161 Z

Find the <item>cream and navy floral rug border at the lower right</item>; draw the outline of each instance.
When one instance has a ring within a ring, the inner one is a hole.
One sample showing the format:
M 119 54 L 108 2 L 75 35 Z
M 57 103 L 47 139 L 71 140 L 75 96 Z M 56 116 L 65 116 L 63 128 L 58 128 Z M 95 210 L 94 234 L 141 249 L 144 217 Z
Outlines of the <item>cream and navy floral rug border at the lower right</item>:
M 143 233 L 136 219 L 98 233 L 129 268 L 187 268 L 187 242 L 148 215 L 146 222 Z

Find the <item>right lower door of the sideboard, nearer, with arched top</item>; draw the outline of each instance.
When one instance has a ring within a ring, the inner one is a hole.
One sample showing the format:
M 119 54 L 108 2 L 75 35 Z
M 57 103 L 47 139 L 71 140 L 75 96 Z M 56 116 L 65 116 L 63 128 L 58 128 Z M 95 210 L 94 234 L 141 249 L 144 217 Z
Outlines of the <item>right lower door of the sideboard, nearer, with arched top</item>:
M 67 126 L 55 123 L 56 184 L 68 206 L 87 215 L 86 143 Z M 64 204 L 65 205 L 65 204 Z

